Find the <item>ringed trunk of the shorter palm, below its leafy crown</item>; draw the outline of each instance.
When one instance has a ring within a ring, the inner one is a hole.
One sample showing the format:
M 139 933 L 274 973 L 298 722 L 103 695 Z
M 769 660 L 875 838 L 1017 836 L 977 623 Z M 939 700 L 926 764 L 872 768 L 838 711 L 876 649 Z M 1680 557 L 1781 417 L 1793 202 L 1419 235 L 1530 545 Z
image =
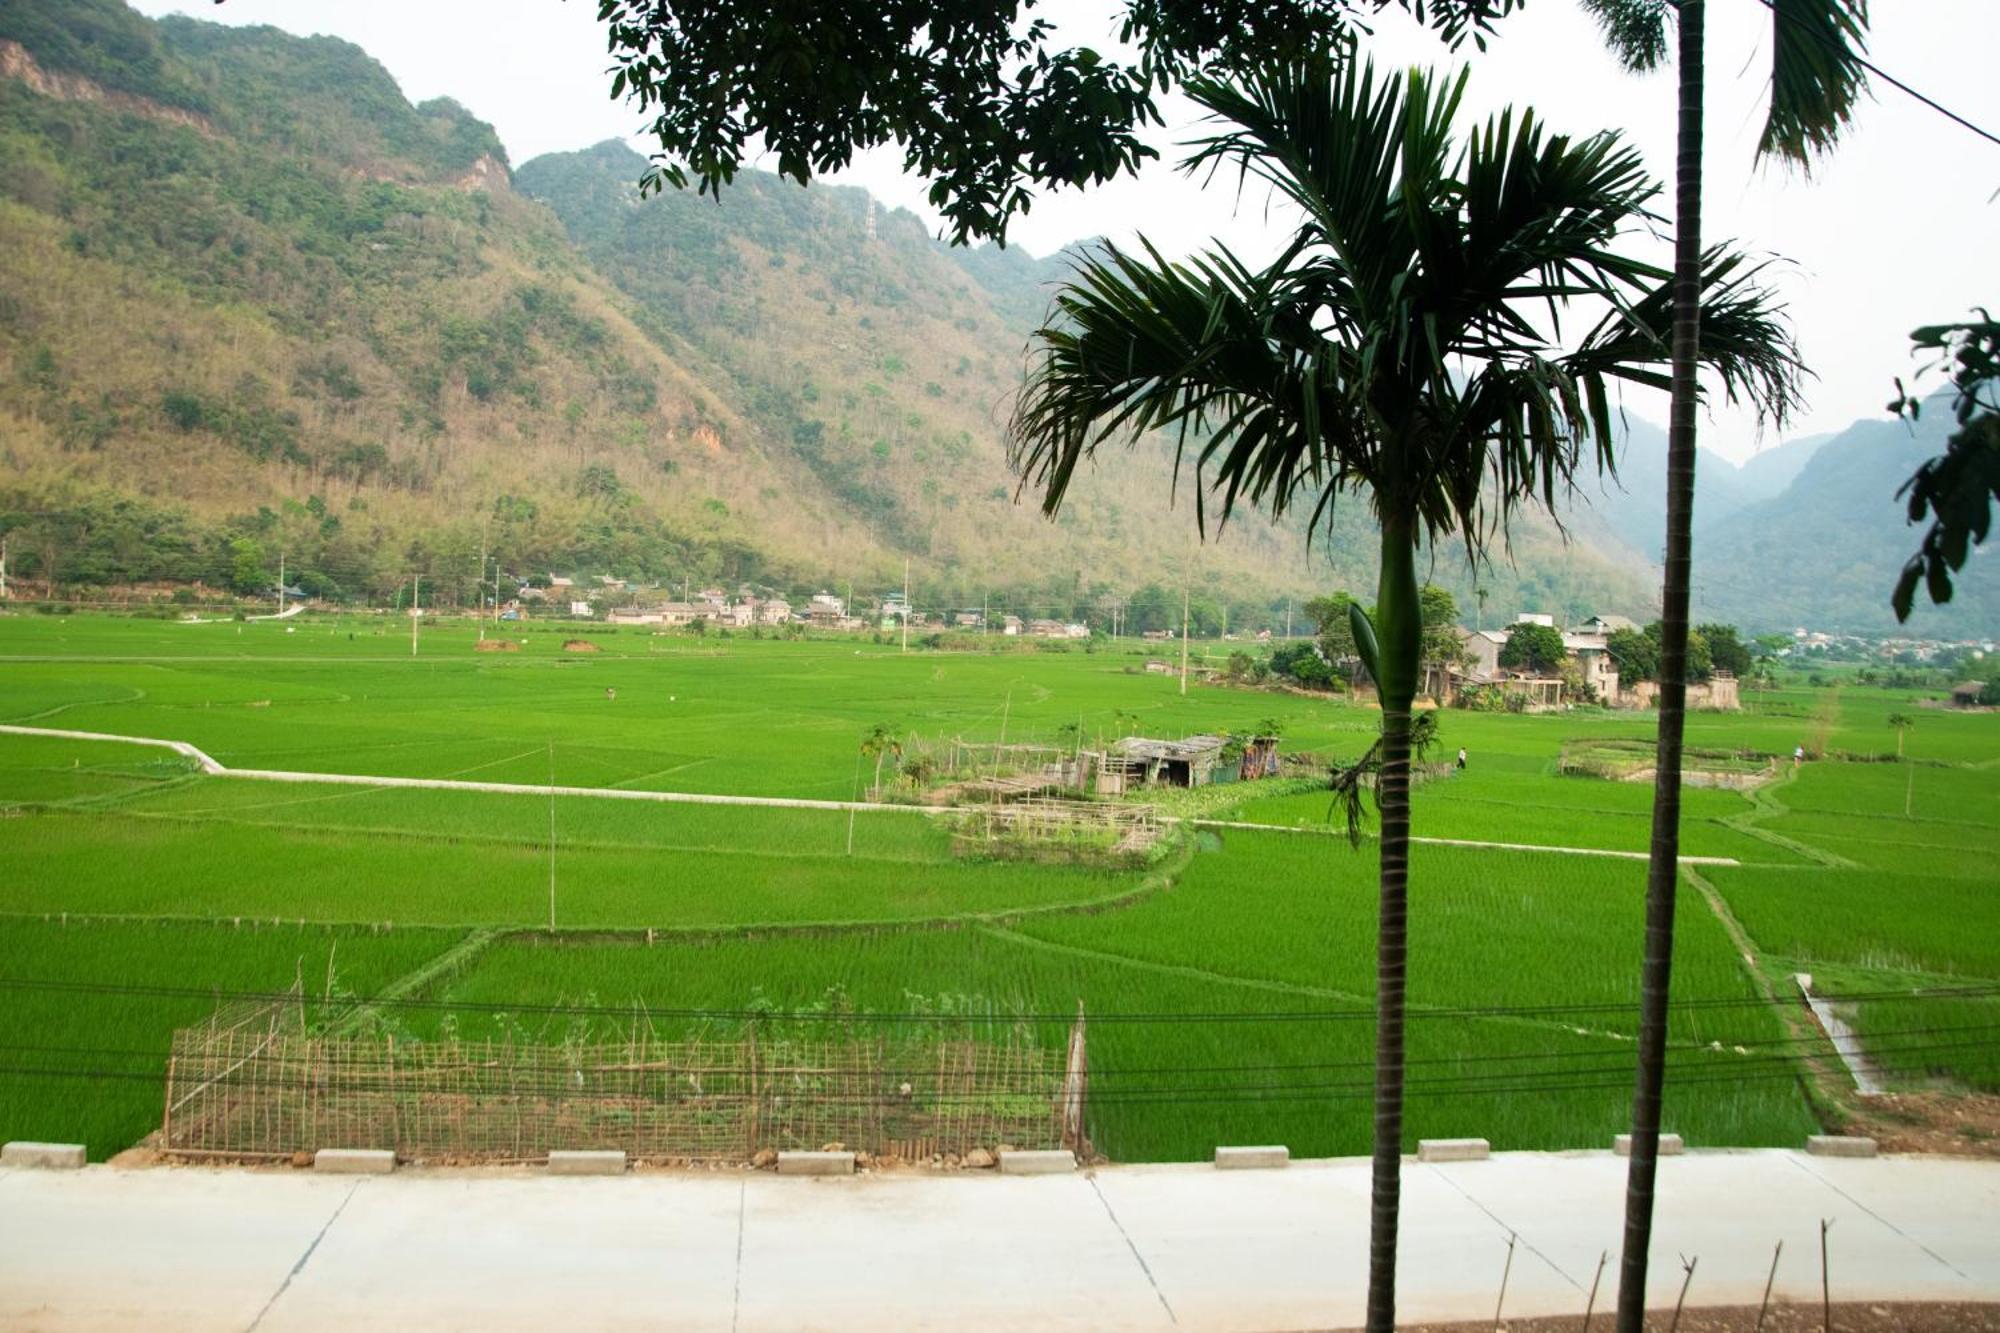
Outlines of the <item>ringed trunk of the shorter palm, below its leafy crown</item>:
M 1376 691 L 1382 699 L 1382 905 L 1376 927 L 1374 1185 L 1368 1217 L 1368 1329 L 1396 1327 L 1396 1225 L 1402 1209 L 1402 1011 L 1410 887 L 1410 705 L 1422 640 L 1416 542 L 1408 522 L 1382 524 L 1376 588 Z

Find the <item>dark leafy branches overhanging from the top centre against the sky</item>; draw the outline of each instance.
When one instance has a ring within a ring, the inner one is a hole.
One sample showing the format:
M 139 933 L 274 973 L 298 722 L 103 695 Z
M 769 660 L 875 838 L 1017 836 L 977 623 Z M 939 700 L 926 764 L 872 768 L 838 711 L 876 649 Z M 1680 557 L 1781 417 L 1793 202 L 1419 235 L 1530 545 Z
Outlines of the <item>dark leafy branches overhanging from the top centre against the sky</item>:
M 1088 186 L 1158 156 L 1158 96 L 1332 54 L 1388 0 L 1126 0 L 1126 62 L 1064 46 L 1034 0 L 598 0 L 612 96 L 652 116 L 644 190 L 716 194 L 762 144 L 798 182 L 904 150 L 956 240 L 1006 240 L 1036 186 Z M 1400 0 L 1456 44 L 1520 0 Z

